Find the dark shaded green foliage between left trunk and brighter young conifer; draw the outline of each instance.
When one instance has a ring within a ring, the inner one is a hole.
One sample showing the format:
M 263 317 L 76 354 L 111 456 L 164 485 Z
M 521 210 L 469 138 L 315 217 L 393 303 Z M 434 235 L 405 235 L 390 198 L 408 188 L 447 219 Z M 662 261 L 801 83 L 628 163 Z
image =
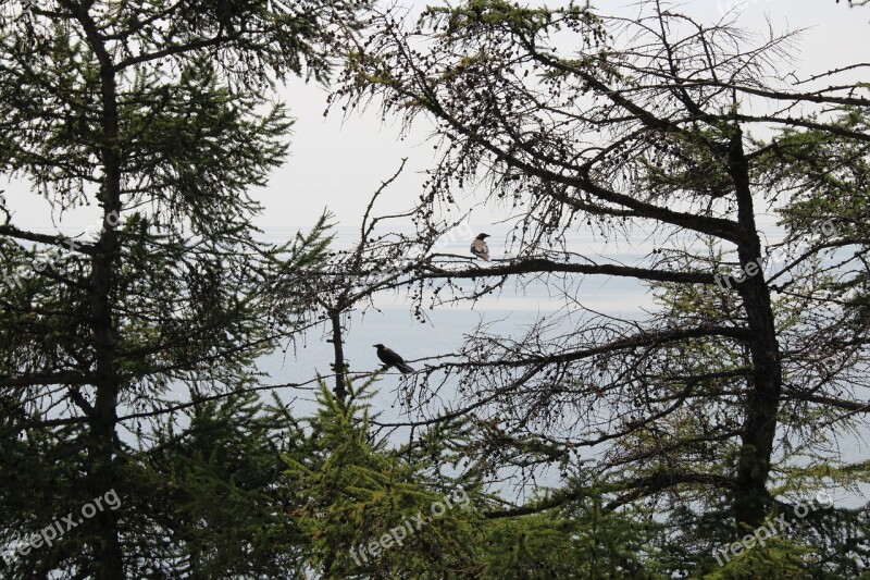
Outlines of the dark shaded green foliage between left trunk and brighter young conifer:
M 194 578 L 298 569 L 299 532 L 283 515 L 293 490 L 275 484 L 283 469 L 275 441 L 301 432 L 254 394 L 196 405 L 187 418 L 177 433 L 166 421 L 129 466 L 137 485 L 126 493 L 128 533 L 152 556 L 176 562 L 175 573 Z

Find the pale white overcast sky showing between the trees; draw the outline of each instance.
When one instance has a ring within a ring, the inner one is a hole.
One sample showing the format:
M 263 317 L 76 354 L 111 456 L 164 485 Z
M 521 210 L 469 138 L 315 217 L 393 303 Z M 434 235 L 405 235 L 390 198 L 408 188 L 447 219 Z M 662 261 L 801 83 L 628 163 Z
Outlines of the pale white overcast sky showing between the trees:
M 566 3 L 554 1 L 549 5 Z M 681 5 L 697 20 L 712 22 L 735 3 L 743 7 L 739 22 L 748 29 L 763 33 L 768 20 L 774 30 L 808 28 L 799 44 L 800 51 L 795 54 L 795 64 L 787 65 L 799 77 L 847 62 L 870 62 L 867 40 L 870 9 L 849 9 L 845 0 L 840 4 L 834 0 L 689 0 Z M 414 3 L 418 8 L 424 4 Z M 595 5 L 605 13 L 636 12 L 632 3 L 623 0 L 599 0 Z M 297 118 L 291 155 L 274 173 L 270 185 L 254 192 L 265 207 L 264 214 L 257 220 L 259 225 L 304 226 L 328 208 L 340 225 L 356 226 L 371 193 L 396 170 L 402 157 L 409 158 L 408 169 L 388 193 L 383 207 L 406 207 L 420 195 L 421 172 L 433 163 L 424 124 L 399 140 L 398 123 L 383 124 L 374 110 L 349 119 L 341 119 L 338 110 L 324 119 L 326 89 L 316 84 L 293 82 L 283 97 Z M 12 183 L 5 189 L 16 225 L 53 230 L 46 199 L 30 194 L 23 184 Z M 75 211 L 64 215 L 62 229 L 84 227 L 95 218 L 92 212 Z

